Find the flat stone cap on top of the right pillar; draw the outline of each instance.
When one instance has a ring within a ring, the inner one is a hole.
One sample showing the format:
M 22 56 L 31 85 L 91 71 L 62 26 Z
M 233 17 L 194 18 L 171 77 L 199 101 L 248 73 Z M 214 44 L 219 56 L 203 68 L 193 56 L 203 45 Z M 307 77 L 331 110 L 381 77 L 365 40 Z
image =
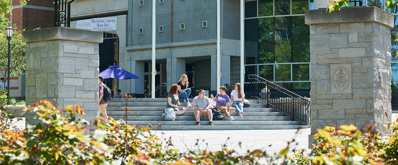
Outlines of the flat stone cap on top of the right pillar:
M 376 7 L 344 7 L 331 13 L 325 9 L 306 10 L 305 24 L 376 22 L 386 27 L 394 27 L 394 16 Z

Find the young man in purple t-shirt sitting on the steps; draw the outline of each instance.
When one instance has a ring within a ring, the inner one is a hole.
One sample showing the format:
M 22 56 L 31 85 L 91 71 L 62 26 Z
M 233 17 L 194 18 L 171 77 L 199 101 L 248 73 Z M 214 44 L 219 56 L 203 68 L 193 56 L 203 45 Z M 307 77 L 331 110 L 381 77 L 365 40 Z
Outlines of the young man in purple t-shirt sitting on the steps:
M 224 112 L 226 117 L 229 117 L 230 121 L 234 121 L 234 117 L 232 117 L 230 114 L 234 113 L 236 110 L 234 107 L 230 107 L 229 102 L 230 98 L 229 96 L 225 93 L 226 92 L 226 87 L 221 86 L 220 87 L 220 93 L 216 95 L 216 97 L 213 96 L 213 94 L 210 95 L 210 97 L 213 99 L 213 101 L 216 102 L 217 109 L 220 109 L 221 112 Z

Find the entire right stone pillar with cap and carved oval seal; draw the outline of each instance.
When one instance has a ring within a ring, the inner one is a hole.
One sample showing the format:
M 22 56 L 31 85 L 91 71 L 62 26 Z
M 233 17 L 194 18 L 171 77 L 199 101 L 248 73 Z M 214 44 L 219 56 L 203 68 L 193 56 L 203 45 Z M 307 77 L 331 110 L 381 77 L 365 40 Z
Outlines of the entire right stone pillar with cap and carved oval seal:
M 391 13 L 375 7 L 327 13 L 306 10 L 310 25 L 311 135 L 317 129 L 375 124 L 388 133 L 391 121 Z

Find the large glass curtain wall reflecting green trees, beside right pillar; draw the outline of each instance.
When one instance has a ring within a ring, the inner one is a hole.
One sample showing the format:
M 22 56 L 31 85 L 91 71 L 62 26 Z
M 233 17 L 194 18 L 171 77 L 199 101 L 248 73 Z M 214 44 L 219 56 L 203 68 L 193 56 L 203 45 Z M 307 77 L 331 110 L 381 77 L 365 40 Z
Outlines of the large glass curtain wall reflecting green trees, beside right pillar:
M 313 0 L 245 1 L 247 75 L 256 74 L 287 89 L 310 89 L 310 33 L 304 11 Z

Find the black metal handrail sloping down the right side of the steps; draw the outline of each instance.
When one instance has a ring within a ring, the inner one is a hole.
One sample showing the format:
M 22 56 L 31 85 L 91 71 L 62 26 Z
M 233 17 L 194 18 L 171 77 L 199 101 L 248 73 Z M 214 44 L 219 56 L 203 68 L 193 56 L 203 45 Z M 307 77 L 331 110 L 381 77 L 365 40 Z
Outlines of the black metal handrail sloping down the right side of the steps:
M 311 124 L 311 102 L 258 75 L 248 75 L 250 95 L 293 116 L 293 119 Z

